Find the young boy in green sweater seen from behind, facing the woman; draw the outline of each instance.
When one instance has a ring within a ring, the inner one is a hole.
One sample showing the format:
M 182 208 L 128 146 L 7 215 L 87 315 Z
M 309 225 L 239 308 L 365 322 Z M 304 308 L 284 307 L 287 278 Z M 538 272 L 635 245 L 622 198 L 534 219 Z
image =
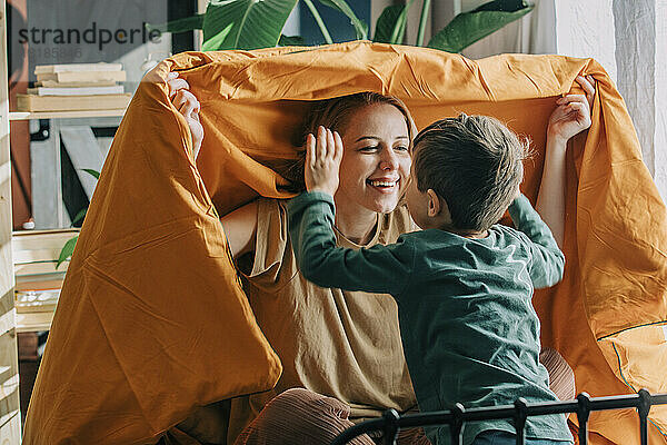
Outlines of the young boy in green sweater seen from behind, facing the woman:
M 538 362 L 539 320 L 530 300 L 534 288 L 561 279 L 565 257 L 519 192 L 526 147 L 516 135 L 492 118 L 465 115 L 424 129 L 406 192 L 424 230 L 360 250 L 337 248 L 332 231 L 340 136 L 320 128 L 307 150 L 308 192 L 288 207 L 299 268 L 322 287 L 394 296 L 421 412 L 457 402 L 558 399 Z M 508 207 L 518 230 L 496 225 Z M 469 423 L 464 443 L 515 444 L 514 432 L 509 419 Z M 427 435 L 434 445 L 450 441 L 447 426 Z M 536 445 L 573 441 L 563 415 L 529 417 L 526 437 Z

